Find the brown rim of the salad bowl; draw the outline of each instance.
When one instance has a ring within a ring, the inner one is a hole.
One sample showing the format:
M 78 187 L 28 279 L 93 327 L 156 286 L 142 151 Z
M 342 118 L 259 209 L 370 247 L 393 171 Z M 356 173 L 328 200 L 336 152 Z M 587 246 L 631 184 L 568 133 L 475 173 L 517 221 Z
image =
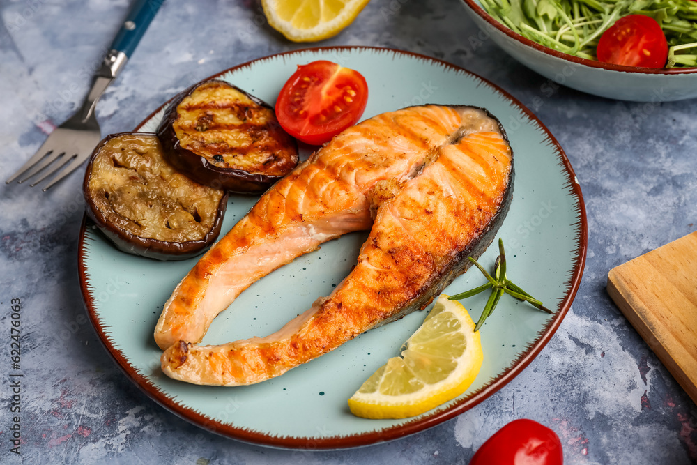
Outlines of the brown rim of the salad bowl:
M 506 36 L 509 36 L 510 38 L 517 40 L 519 43 L 522 43 L 523 45 L 527 45 L 528 47 L 531 47 L 538 52 L 542 52 L 544 54 L 548 54 L 550 56 L 555 56 L 556 58 L 560 58 L 565 61 L 571 61 L 572 63 L 576 63 L 579 65 L 584 65 L 584 66 L 589 66 L 590 68 L 599 68 L 607 71 L 617 71 L 619 73 L 636 73 L 636 74 L 644 74 L 644 75 L 685 75 L 685 74 L 694 74 L 697 73 L 697 67 L 691 67 L 691 68 L 645 68 L 642 66 L 624 66 L 624 65 L 615 65 L 613 63 L 603 63 L 602 61 L 597 61 L 597 60 L 589 60 L 585 58 L 581 58 L 580 56 L 574 56 L 574 55 L 569 55 L 564 52 L 560 52 L 555 49 L 551 49 L 549 47 L 545 47 L 542 44 L 539 44 L 535 42 L 534 40 L 530 40 L 527 37 L 521 36 L 519 33 L 513 31 L 509 27 L 505 26 L 505 24 L 501 24 L 500 22 L 496 21 L 487 13 L 484 8 L 482 8 L 475 0 L 462 0 L 466 5 L 473 10 L 477 15 L 479 15 L 482 20 L 486 21 L 489 23 L 490 26 L 498 29 L 499 31 L 505 33 Z

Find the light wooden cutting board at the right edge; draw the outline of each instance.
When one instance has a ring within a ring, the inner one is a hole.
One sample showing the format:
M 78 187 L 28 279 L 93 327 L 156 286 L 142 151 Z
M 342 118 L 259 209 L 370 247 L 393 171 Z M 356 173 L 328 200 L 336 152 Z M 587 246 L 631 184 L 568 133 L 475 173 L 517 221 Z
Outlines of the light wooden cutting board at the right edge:
M 616 266 L 607 289 L 697 403 L 697 231 Z

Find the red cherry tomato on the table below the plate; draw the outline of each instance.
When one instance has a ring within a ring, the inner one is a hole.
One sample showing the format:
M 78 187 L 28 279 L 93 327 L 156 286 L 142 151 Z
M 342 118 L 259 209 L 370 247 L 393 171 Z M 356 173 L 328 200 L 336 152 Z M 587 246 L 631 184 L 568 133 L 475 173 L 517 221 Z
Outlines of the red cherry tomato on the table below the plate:
M 522 418 L 482 444 L 470 465 L 562 465 L 562 443 L 551 429 Z

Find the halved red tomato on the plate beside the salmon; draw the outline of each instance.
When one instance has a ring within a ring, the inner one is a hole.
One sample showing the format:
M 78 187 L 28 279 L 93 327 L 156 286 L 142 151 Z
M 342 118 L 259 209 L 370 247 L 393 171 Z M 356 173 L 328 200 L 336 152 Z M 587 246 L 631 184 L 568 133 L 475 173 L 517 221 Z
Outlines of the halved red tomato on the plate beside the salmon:
M 276 117 L 307 144 L 327 142 L 354 125 L 365 110 L 368 84 L 358 71 L 331 61 L 298 66 L 276 100 Z

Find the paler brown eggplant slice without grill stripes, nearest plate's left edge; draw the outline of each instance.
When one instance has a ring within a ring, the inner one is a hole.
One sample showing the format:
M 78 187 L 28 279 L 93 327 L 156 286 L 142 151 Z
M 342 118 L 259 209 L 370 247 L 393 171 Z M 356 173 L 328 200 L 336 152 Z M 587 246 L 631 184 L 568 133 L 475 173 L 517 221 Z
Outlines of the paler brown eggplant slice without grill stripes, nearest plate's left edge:
M 160 260 L 204 252 L 220 234 L 227 192 L 192 181 L 162 156 L 155 134 L 109 135 L 82 189 L 87 214 L 119 249 Z

